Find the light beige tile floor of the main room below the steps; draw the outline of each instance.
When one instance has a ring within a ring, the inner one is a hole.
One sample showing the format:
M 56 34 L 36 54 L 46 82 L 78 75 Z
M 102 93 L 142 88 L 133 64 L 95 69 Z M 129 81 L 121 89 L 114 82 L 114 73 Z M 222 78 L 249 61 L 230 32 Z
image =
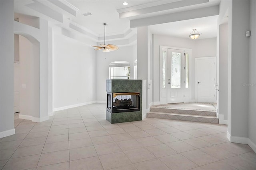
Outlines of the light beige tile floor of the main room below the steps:
M 1 170 L 256 170 L 248 145 L 228 142 L 227 126 L 145 118 L 110 124 L 105 104 L 18 118 L 0 139 Z

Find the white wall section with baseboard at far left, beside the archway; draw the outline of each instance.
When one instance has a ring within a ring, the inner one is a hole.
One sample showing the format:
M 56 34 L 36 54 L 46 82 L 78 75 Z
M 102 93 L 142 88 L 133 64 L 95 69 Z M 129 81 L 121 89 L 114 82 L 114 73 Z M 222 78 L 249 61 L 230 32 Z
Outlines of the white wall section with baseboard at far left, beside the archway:
M 0 0 L 0 138 L 15 134 L 13 6 L 13 0 Z

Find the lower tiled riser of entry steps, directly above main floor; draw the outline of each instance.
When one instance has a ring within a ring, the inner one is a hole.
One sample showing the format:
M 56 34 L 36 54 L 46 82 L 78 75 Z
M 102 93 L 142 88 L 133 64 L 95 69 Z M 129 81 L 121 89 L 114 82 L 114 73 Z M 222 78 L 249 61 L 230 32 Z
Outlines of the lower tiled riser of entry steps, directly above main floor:
M 172 120 L 185 120 L 192 122 L 204 122 L 204 123 L 219 123 L 218 118 L 202 118 L 202 117 L 193 117 L 193 116 L 179 116 L 179 115 L 169 115 L 161 113 L 147 113 L 148 118 L 163 118 L 163 119 L 172 119 Z

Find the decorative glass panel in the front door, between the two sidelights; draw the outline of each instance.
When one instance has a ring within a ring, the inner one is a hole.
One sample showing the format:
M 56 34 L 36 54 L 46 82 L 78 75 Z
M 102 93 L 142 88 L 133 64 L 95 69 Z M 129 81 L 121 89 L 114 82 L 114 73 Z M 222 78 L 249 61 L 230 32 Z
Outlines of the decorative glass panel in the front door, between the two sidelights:
M 181 88 L 181 53 L 172 52 L 171 88 Z

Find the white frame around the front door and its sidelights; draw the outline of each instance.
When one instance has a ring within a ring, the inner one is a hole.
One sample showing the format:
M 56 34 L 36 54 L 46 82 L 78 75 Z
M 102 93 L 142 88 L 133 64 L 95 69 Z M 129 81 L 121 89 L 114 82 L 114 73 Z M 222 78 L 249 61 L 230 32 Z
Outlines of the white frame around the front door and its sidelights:
M 159 48 L 159 104 L 168 104 L 168 98 L 167 98 L 167 84 L 168 81 L 166 81 L 166 88 L 162 88 L 162 51 L 163 49 L 165 49 L 165 51 L 167 51 L 166 57 L 168 57 L 168 49 L 176 49 L 176 50 L 184 50 L 185 54 L 188 54 L 188 78 L 189 78 L 189 84 L 188 84 L 188 88 L 184 88 L 184 103 L 187 102 L 192 102 L 194 100 L 191 99 L 191 93 L 192 93 L 192 49 L 190 48 L 181 48 L 181 47 L 173 47 L 173 46 L 162 46 L 160 45 Z M 168 80 L 167 78 L 167 70 L 166 70 L 166 80 Z

